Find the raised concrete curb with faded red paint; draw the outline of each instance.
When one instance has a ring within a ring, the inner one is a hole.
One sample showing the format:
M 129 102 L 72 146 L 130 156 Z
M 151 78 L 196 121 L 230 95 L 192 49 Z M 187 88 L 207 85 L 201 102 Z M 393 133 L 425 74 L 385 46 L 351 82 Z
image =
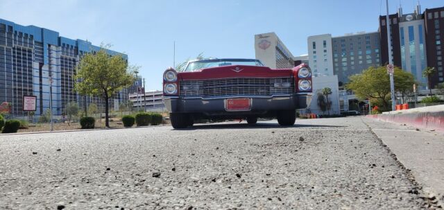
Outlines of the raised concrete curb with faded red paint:
M 402 110 L 406 112 L 407 110 Z M 412 125 L 418 128 L 444 132 L 444 106 L 422 107 L 408 112 L 387 112 L 384 114 L 368 115 L 373 119 Z

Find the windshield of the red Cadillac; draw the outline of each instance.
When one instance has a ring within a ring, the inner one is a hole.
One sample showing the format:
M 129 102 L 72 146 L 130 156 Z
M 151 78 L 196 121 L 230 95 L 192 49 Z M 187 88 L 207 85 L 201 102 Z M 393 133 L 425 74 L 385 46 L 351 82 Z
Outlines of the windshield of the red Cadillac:
M 232 65 L 257 66 L 264 67 L 264 64 L 255 59 L 214 59 L 214 60 L 196 60 L 189 62 L 185 71 L 198 71 L 211 67 L 225 67 Z

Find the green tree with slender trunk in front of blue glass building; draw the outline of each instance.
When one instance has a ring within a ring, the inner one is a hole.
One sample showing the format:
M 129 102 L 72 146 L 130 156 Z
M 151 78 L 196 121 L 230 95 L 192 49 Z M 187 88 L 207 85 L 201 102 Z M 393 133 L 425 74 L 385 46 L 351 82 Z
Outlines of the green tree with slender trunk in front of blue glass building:
M 79 94 L 99 96 L 105 100 L 105 126 L 110 128 L 108 119 L 109 99 L 134 82 L 134 71 L 121 55 L 108 55 L 105 48 L 96 53 L 83 55 L 78 63 L 75 89 Z

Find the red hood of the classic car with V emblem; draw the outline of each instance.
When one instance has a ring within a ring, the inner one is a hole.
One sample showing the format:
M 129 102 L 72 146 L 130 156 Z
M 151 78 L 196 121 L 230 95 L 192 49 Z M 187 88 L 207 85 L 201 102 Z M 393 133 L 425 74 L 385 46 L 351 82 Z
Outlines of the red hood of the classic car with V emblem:
M 225 66 L 178 73 L 179 80 L 207 80 L 219 78 L 279 78 L 292 77 L 291 69 L 270 69 L 255 66 Z

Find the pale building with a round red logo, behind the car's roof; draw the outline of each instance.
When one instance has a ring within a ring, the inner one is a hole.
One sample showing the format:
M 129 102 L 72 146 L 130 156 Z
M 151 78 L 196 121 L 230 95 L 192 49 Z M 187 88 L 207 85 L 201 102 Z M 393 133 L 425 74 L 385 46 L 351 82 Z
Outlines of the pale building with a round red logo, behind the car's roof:
M 255 35 L 256 59 L 271 69 L 294 67 L 293 55 L 274 32 Z

